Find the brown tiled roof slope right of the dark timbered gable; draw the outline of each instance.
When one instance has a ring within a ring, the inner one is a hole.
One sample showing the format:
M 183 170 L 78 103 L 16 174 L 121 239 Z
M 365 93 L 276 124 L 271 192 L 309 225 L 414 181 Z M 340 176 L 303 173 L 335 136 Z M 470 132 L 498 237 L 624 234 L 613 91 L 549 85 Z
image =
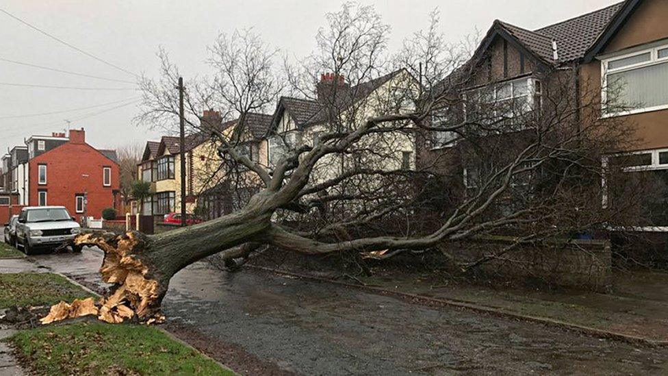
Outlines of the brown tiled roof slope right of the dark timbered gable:
M 624 2 L 613 4 L 567 21 L 542 27 L 535 32 L 556 40 L 559 60 L 562 62 L 577 60 L 585 57 L 587 50 L 604 32 L 622 5 Z

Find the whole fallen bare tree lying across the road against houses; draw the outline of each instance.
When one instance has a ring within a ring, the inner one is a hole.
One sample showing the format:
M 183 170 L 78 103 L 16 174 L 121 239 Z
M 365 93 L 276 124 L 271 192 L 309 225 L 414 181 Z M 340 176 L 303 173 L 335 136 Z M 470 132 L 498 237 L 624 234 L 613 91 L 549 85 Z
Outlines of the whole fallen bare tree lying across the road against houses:
M 389 251 L 383 254 L 391 256 L 495 231 L 515 234 L 519 244 L 592 229 L 624 218 L 632 207 L 634 200 L 628 199 L 612 210 L 601 208 L 600 181 L 613 172 L 609 166 L 604 170 L 602 155 L 632 141 L 627 124 L 598 116 L 595 97 L 578 98 L 576 71 L 536 72 L 546 88 L 539 92 L 540 106 L 537 97 L 531 106 L 528 99 L 483 103 L 485 93 L 478 89 L 475 98 L 461 92 L 485 61 L 469 60 L 466 49 L 445 45 L 435 31 L 436 15 L 392 64 L 384 55 L 388 27 L 372 8 L 346 4 L 327 17 L 329 28 L 317 38 L 319 52 L 288 65 L 281 82 L 272 64 L 276 52 L 252 34 L 221 36 L 211 47 L 216 77 L 190 84 L 186 122 L 216 145 L 220 162 L 209 179 L 234 183 L 227 185 L 230 194 L 251 185 L 253 194 L 228 214 L 164 234 L 79 236 L 77 245 L 105 252 L 101 274 L 114 284 L 97 308 L 100 318 L 161 319 L 172 276 L 211 255 L 238 268 L 262 245 L 311 255 Z M 142 81 L 140 121 L 169 127 L 179 114 L 174 90 L 179 72 L 166 53 L 160 56 L 162 77 Z M 333 85 L 315 84 L 313 73 L 322 71 L 332 72 L 322 79 Z M 275 162 L 265 162 L 244 151 L 260 142 L 248 136 L 249 119 L 274 105 L 286 90 L 282 82 L 292 92 L 311 95 L 316 108 L 311 123 L 294 129 L 281 131 L 280 119 L 272 122 L 261 139 L 283 142 L 285 148 Z M 207 108 L 231 121 L 207 122 L 199 116 Z M 294 142 L 295 131 L 308 141 Z M 415 151 L 427 149 L 424 142 L 433 134 L 447 134 L 458 145 L 457 158 L 444 152 L 418 160 Z M 413 145 L 410 151 L 404 149 L 407 143 Z M 439 167 L 452 159 L 459 164 Z M 448 197 L 441 200 L 443 192 Z M 504 252 L 513 247 L 508 248 Z

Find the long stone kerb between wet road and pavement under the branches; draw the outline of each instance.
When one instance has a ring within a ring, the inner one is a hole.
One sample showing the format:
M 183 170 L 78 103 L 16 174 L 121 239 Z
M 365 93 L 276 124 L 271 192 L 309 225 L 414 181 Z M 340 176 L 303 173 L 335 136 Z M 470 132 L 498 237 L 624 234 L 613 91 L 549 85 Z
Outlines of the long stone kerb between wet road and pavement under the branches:
M 350 284 L 348 282 L 335 281 L 333 279 L 316 277 L 313 275 L 305 275 L 300 273 L 293 273 L 290 271 L 281 271 L 279 269 L 268 268 L 266 266 L 255 266 L 248 265 L 248 268 L 253 268 L 261 271 L 268 271 L 275 273 L 277 275 L 286 275 L 289 277 L 296 277 L 300 279 L 309 279 L 311 281 L 318 281 L 328 284 L 336 284 L 339 286 L 346 286 L 349 288 L 357 288 L 359 290 L 367 290 L 374 292 L 376 294 L 382 295 L 393 295 L 395 297 L 400 297 L 403 299 L 410 299 L 413 302 L 426 305 L 426 303 L 437 303 L 439 305 L 448 305 L 450 307 L 462 308 L 465 310 L 470 310 L 478 313 L 489 314 L 491 316 L 501 317 L 501 318 L 515 318 L 522 321 L 528 321 L 531 323 L 539 323 L 548 325 L 551 327 L 558 327 L 560 329 L 566 329 L 568 331 L 574 331 L 581 334 L 587 334 L 588 336 L 595 336 L 598 338 L 608 338 L 611 340 L 617 340 L 621 342 L 626 342 L 630 344 L 641 344 L 650 347 L 668 347 L 668 340 L 650 340 L 648 338 L 631 336 L 629 334 L 618 333 L 615 331 L 607 331 L 603 329 L 596 329 L 594 327 L 587 327 L 585 325 L 578 325 L 574 323 L 568 323 L 567 321 L 555 320 L 553 318 L 541 317 L 541 316 L 529 316 L 524 314 L 517 314 L 514 312 L 508 312 L 504 310 L 499 310 L 497 308 L 487 307 L 485 305 L 478 305 L 477 303 L 471 301 L 462 301 L 456 299 L 439 299 L 432 297 L 425 297 L 424 295 L 411 294 L 409 292 L 400 292 L 387 290 L 385 288 L 380 288 L 376 286 L 363 286 L 359 284 Z

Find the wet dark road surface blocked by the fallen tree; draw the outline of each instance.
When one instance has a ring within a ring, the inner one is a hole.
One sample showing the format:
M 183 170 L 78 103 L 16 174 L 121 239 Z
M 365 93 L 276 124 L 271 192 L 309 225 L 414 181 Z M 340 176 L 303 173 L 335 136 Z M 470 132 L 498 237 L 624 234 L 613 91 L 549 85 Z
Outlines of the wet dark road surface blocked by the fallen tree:
M 97 250 L 34 260 L 101 284 Z M 668 349 L 203 264 L 172 279 L 164 313 L 172 323 L 305 375 L 668 373 Z

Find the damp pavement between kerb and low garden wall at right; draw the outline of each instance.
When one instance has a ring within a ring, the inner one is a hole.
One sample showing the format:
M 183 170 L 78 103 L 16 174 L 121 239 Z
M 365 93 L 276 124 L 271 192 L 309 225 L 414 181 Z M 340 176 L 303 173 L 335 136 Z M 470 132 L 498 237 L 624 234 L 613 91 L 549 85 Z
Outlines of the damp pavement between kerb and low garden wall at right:
M 361 278 L 368 286 L 433 299 L 473 303 L 518 316 L 535 316 L 603 331 L 668 340 L 668 274 L 649 271 L 615 274 L 609 294 L 457 284 L 435 275 Z

